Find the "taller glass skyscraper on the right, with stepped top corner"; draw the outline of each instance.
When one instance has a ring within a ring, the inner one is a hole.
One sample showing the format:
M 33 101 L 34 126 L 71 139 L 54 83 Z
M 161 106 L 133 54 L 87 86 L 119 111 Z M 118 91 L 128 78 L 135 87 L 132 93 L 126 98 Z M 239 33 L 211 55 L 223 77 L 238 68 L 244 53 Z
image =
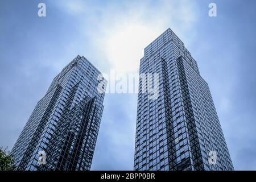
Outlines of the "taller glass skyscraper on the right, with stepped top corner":
M 207 82 L 168 28 L 144 49 L 140 74 L 159 75 L 159 96 L 139 81 L 134 170 L 233 170 Z

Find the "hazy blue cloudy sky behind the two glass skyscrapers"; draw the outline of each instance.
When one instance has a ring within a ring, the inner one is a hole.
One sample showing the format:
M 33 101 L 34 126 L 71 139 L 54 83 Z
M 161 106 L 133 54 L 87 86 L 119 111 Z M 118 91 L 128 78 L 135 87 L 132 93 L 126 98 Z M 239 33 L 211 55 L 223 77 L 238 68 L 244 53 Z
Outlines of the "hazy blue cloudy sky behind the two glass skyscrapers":
M 38 3 L 47 16 L 39 18 Z M 217 17 L 208 5 L 217 5 Z M 137 73 L 170 27 L 212 92 L 237 170 L 256 170 L 256 2 L 0 1 L 0 146 L 13 147 L 53 77 L 76 55 L 101 72 Z M 133 169 L 137 94 L 106 94 L 92 169 Z

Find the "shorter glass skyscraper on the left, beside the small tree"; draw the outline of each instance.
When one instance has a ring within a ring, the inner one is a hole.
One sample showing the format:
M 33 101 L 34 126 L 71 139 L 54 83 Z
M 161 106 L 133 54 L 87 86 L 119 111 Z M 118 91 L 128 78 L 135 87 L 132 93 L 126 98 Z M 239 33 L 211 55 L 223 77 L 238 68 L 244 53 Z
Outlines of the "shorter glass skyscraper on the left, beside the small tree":
M 11 151 L 18 170 L 90 169 L 104 108 L 98 75 L 77 56 L 53 79 Z

